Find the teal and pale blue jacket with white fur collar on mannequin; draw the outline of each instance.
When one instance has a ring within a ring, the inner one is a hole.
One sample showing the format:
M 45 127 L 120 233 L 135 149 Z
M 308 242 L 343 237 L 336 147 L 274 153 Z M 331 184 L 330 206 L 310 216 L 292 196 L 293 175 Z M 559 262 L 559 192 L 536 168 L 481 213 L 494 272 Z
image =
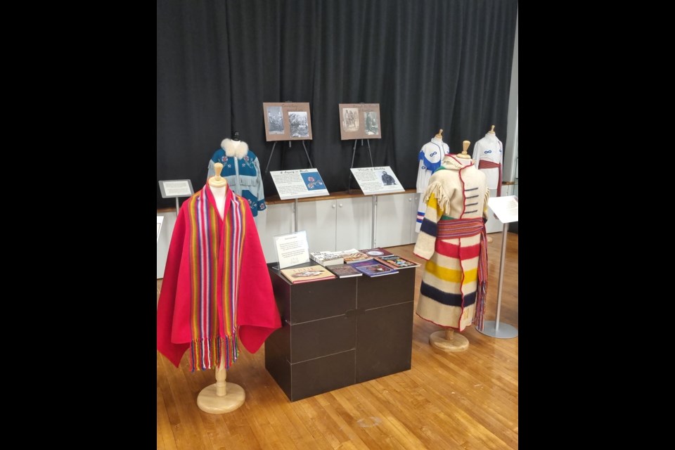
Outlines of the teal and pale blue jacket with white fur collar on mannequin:
M 220 146 L 209 160 L 207 178 L 214 176 L 214 164 L 220 162 L 232 191 L 248 201 L 253 217 L 257 217 L 259 211 L 266 209 L 258 158 L 241 141 L 239 131 L 234 132 L 232 139 L 223 139 Z

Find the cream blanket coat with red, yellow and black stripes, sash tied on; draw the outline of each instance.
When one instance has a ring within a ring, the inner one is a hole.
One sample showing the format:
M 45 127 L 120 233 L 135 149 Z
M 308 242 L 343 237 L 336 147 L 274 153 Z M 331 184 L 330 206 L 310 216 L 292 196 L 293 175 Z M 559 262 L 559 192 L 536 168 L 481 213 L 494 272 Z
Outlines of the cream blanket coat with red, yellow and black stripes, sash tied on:
M 471 160 L 446 156 L 429 179 L 424 220 L 413 250 L 428 260 L 416 310 L 422 319 L 460 331 L 477 319 L 476 300 L 484 300 L 487 288 L 483 220 L 489 195 L 485 174 Z

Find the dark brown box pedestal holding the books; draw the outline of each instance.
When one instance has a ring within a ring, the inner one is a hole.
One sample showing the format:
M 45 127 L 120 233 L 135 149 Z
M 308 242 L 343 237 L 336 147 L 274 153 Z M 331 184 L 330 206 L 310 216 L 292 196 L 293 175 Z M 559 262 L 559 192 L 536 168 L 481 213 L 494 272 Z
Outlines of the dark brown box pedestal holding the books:
M 283 326 L 265 368 L 290 401 L 410 369 L 415 269 L 293 285 L 267 266 Z

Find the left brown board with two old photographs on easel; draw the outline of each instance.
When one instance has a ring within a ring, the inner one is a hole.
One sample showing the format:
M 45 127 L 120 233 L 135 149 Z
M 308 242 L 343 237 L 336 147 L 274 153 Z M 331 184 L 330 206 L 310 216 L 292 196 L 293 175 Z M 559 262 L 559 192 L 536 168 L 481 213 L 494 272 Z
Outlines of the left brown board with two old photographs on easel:
M 266 141 L 311 140 L 309 103 L 263 103 Z

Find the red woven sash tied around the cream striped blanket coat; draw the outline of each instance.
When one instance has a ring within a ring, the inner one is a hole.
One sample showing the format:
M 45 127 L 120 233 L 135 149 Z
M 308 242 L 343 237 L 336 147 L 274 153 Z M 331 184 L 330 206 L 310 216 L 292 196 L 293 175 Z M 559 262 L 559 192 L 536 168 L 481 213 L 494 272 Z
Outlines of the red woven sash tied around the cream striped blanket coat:
M 438 222 L 439 239 L 473 238 L 480 234 L 480 253 L 478 255 L 478 273 L 476 286 L 476 313 L 473 323 L 478 330 L 483 329 L 485 296 L 487 294 L 487 236 L 482 217 L 475 219 L 442 219 Z

